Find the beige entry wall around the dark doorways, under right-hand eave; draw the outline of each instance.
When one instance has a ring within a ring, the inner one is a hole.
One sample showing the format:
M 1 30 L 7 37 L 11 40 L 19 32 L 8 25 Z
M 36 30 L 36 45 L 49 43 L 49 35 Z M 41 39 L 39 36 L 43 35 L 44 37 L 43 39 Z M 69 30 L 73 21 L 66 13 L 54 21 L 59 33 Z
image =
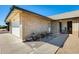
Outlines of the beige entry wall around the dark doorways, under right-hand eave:
M 67 28 L 67 22 L 68 21 L 72 21 L 72 34 L 73 35 L 77 35 L 78 36 L 78 24 L 79 24 L 79 18 L 74 18 L 74 19 L 67 19 L 67 20 L 60 20 L 60 22 L 62 22 L 62 29 L 64 29 L 65 27 Z

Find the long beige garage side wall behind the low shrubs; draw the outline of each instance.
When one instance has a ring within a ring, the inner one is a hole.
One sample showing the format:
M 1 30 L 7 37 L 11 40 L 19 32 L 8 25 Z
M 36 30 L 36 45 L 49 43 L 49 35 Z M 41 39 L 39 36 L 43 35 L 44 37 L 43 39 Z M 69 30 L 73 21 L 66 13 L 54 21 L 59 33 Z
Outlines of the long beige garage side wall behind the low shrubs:
M 21 22 L 23 30 L 22 31 L 23 39 L 33 32 L 35 33 L 41 33 L 45 31 L 48 32 L 51 24 L 47 18 L 29 12 L 21 13 Z

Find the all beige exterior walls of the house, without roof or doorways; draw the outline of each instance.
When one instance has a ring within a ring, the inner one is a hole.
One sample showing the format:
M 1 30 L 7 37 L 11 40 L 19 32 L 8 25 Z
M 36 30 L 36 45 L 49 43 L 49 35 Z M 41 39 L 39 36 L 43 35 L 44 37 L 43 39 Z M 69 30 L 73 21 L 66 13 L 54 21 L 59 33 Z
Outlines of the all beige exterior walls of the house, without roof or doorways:
M 59 22 L 62 22 L 62 30 L 67 28 L 67 22 L 72 21 L 72 34 L 79 37 L 79 18 L 51 20 L 36 14 L 24 11 L 15 11 L 10 19 L 10 32 L 25 39 L 31 33 L 49 32 L 60 33 Z M 51 26 L 52 24 L 52 26 Z

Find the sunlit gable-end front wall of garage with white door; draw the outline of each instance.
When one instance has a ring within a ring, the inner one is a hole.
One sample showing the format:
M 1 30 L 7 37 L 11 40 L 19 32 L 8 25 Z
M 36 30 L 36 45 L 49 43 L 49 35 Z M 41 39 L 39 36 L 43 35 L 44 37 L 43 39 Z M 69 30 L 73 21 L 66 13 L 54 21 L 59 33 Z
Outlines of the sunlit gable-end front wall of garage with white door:
M 18 37 L 22 38 L 21 36 L 21 23 L 20 23 L 20 13 L 16 13 L 10 18 L 10 32 Z

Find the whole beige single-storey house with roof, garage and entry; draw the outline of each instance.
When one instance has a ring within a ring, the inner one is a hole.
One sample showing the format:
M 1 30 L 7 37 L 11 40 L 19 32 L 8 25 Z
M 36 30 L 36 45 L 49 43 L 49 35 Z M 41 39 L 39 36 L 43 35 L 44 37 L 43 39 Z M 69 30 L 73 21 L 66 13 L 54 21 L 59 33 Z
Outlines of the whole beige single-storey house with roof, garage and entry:
M 52 32 L 79 36 L 79 11 L 42 16 L 13 6 L 6 17 L 10 32 L 25 39 L 31 33 Z

